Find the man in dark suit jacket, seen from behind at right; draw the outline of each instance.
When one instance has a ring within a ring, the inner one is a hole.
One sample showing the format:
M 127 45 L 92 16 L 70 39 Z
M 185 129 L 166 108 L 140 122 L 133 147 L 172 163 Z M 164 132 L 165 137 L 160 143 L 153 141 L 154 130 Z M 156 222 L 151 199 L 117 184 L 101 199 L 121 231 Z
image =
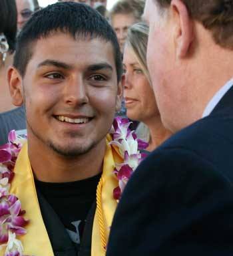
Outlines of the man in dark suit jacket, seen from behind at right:
M 148 69 L 177 133 L 128 182 L 108 256 L 232 255 L 232 14 L 232 1 L 146 1 Z

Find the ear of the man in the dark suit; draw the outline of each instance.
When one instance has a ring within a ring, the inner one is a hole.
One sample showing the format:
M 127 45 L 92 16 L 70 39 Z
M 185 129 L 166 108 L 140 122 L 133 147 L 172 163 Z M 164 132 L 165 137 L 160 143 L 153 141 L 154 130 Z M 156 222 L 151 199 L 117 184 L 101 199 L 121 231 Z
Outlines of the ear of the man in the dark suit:
M 184 58 L 188 55 L 194 39 L 194 22 L 188 14 L 186 5 L 181 0 L 172 0 L 170 7 L 174 23 L 176 56 Z

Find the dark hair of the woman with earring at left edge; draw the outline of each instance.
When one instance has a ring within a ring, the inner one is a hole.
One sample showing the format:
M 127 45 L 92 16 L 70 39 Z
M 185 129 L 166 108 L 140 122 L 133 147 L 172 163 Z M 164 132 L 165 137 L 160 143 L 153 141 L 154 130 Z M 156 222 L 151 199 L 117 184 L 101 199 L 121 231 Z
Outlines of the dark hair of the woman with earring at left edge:
M 15 37 L 17 33 L 17 9 L 15 0 L 0 1 L 0 33 L 7 37 L 9 49 L 15 49 Z

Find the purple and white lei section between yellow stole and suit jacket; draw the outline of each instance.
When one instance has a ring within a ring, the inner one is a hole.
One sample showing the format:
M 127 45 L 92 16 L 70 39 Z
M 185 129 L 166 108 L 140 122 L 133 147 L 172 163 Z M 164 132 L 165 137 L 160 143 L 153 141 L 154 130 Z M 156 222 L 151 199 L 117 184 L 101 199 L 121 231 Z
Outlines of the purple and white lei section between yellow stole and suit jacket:
M 122 192 L 138 164 L 146 157 L 140 150 L 147 148 L 148 143 L 136 137 L 134 131 L 129 129 L 130 122 L 127 118 L 116 117 L 113 121 L 110 144 L 118 146 L 120 155 L 124 159 L 121 164 L 115 164 L 114 173 L 118 179 L 118 186 L 113 190 L 113 197 L 118 202 Z

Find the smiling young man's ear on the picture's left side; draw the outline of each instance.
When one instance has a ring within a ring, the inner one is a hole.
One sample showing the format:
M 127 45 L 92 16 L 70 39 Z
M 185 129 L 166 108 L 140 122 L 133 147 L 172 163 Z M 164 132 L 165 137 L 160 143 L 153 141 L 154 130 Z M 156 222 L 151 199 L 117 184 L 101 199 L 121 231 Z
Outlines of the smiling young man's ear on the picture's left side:
M 7 82 L 11 94 L 12 103 L 15 106 L 23 104 L 23 81 L 18 70 L 10 67 L 7 71 Z

